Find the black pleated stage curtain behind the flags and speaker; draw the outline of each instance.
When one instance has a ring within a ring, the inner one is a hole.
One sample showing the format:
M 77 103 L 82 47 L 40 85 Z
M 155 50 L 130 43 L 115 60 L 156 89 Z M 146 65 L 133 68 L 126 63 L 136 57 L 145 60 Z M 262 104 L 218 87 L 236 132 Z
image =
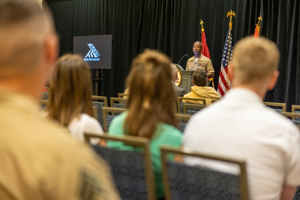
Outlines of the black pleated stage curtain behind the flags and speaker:
M 261 35 L 273 40 L 280 50 L 280 77 L 265 101 L 300 104 L 300 4 L 295 0 L 48 0 L 61 54 L 72 52 L 73 36 L 113 34 L 112 69 L 101 70 L 101 95 L 116 97 L 124 91 L 133 58 L 144 49 L 164 52 L 185 68 L 193 56 L 194 41 L 201 41 L 200 19 L 215 70 L 215 88 L 225 37 L 228 11 L 232 19 L 233 45 L 253 35 L 263 4 Z

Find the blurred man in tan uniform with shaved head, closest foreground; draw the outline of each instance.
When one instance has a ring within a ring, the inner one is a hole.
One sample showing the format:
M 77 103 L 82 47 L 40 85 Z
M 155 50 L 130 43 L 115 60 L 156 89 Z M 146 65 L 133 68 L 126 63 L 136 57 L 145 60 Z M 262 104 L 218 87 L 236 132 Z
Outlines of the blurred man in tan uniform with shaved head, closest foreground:
M 0 199 L 119 199 L 106 163 L 38 115 L 58 55 L 54 32 L 36 1 L 0 1 Z

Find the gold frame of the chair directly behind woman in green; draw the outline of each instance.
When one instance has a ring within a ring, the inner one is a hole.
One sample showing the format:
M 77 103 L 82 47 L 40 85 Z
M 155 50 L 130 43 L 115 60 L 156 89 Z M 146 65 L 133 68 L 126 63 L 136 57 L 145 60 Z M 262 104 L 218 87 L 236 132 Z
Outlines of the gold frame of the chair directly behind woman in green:
M 85 142 L 89 144 L 90 138 L 100 138 L 104 140 L 114 140 L 125 143 L 126 145 L 139 146 L 143 148 L 143 160 L 145 168 L 145 178 L 147 186 L 147 196 L 149 200 L 156 200 L 156 190 L 154 181 L 154 172 L 152 170 L 152 160 L 149 150 L 149 140 L 142 137 L 135 136 L 109 136 L 107 134 L 97 135 L 91 133 L 84 133 Z M 107 147 L 108 148 L 108 147 Z M 122 150 L 120 150 L 122 151 Z

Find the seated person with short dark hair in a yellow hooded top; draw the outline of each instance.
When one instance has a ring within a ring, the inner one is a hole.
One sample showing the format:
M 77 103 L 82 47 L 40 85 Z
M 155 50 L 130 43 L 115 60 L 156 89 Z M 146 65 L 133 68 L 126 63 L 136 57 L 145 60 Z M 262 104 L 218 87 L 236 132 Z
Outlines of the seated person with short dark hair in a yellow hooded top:
M 193 73 L 193 86 L 190 87 L 190 92 L 185 94 L 183 97 L 186 98 L 198 98 L 205 99 L 206 105 L 211 104 L 211 100 L 220 99 L 220 95 L 217 91 L 212 87 L 205 87 L 208 81 L 207 74 L 205 70 L 197 69 Z M 185 103 L 202 103 L 202 101 L 194 101 L 194 100 L 182 100 Z

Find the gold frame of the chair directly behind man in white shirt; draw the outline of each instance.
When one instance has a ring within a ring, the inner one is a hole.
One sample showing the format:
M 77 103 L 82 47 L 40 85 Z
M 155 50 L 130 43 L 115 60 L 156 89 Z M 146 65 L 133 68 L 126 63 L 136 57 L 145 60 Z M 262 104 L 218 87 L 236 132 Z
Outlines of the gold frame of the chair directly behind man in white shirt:
M 180 154 L 181 156 L 194 156 L 200 158 L 207 158 L 211 160 L 219 160 L 228 163 L 235 163 L 240 166 L 241 173 L 239 175 L 239 186 L 240 186 L 240 194 L 242 200 L 249 200 L 248 194 L 248 184 L 247 184 L 247 174 L 246 174 L 246 164 L 244 160 L 238 160 L 230 157 L 222 157 L 217 155 L 205 154 L 200 152 L 194 152 L 188 148 L 171 148 L 167 146 L 161 146 L 161 158 L 163 164 L 163 181 L 164 181 L 164 190 L 165 190 L 165 198 L 166 200 L 171 200 L 170 193 L 170 184 L 168 180 L 168 170 L 167 170 L 167 154 Z

